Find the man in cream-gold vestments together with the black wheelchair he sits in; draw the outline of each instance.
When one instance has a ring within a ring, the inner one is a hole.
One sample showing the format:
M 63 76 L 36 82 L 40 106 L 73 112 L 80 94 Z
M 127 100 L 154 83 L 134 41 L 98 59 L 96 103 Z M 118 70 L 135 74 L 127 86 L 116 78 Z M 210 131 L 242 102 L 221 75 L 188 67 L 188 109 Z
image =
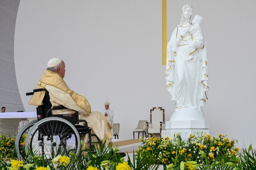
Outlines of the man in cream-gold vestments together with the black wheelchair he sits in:
M 24 152 L 56 155 L 63 152 L 80 154 L 81 142 L 84 147 L 93 150 L 94 142 L 110 142 L 111 124 L 99 111 L 91 111 L 87 99 L 67 86 L 63 80 L 65 63 L 52 58 L 37 83 L 36 89 L 27 95 L 33 95 L 29 104 L 37 107 L 37 120 L 26 124 L 17 134 L 16 148 L 18 156 L 25 158 Z M 25 144 L 21 142 L 27 133 Z M 22 150 L 23 148 L 23 150 Z

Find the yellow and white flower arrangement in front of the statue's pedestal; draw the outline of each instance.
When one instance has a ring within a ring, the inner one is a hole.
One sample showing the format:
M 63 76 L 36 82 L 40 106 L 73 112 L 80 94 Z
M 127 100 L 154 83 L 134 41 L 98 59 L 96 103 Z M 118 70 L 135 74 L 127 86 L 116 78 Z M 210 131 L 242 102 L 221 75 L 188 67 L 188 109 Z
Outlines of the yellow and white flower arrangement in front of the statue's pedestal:
M 186 142 L 182 142 L 180 133 L 173 139 L 166 138 L 140 138 L 143 146 L 139 148 L 138 154 L 141 156 L 151 153 L 155 159 L 161 160 L 164 166 L 169 164 L 169 168 L 178 168 L 183 163 L 188 169 L 198 166 L 209 166 L 215 162 L 218 165 L 219 155 L 231 159 L 238 155 L 239 148 L 234 148 L 237 140 L 230 140 L 226 136 L 197 134 L 190 135 Z M 154 153 L 154 154 L 153 154 Z M 170 167 L 171 165 L 171 167 Z

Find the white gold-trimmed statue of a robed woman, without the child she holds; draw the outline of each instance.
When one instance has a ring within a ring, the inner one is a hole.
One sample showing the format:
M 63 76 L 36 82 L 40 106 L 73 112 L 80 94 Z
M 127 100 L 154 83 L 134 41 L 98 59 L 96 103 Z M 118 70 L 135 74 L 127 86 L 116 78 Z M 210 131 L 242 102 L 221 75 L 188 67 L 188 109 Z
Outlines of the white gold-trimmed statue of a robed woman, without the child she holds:
M 176 106 L 175 111 L 191 108 L 202 113 L 201 107 L 208 99 L 207 44 L 193 39 L 191 14 L 191 5 L 184 5 L 181 21 L 167 44 L 166 89 Z

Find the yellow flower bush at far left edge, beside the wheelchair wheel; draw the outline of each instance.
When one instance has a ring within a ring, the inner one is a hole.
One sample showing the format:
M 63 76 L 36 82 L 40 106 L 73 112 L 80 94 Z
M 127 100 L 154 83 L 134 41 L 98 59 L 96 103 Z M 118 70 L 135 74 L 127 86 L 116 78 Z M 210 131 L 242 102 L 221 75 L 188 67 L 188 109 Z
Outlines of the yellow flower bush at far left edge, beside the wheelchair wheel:
M 1 157 L 4 158 L 10 158 L 12 150 L 15 149 L 15 137 L 12 137 L 12 135 L 8 134 L 7 132 L 4 134 L 0 132 L 0 153 Z

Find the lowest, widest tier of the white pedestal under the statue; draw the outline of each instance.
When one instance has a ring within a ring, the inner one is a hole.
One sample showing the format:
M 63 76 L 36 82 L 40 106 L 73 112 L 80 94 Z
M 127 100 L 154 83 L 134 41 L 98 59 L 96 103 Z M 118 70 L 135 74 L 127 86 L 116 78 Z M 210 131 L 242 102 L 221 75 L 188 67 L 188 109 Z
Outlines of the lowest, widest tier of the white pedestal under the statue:
M 181 139 L 182 141 L 187 141 L 187 139 L 190 137 L 190 134 L 192 135 L 197 135 L 197 133 L 199 133 L 199 135 L 201 135 L 201 133 L 203 132 L 203 135 L 204 134 L 207 134 L 209 135 L 210 132 L 209 132 L 209 129 L 196 129 L 196 128 L 188 128 L 188 129 L 168 129 L 168 130 L 164 130 L 162 131 L 162 137 L 163 138 L 166 138 L 167 136 L 172 139 L 174 138 L 174 135 L 176 133 L 180 133 L 181 135 Z

